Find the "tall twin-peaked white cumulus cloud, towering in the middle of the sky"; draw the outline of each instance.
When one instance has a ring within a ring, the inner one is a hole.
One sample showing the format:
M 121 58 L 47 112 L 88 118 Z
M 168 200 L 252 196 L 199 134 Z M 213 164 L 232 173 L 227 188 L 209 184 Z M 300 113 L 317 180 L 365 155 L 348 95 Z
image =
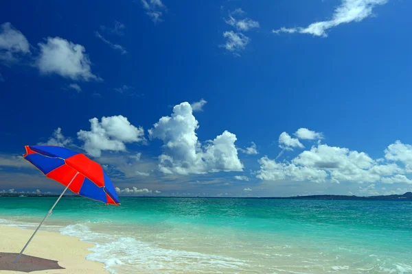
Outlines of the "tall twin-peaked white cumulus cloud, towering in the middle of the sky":
M 168 174 L 201 174 L 217 171 L 242 171 L 234 145 L 236 135 L 223 132 L 201 145 L 196 136 L 198 121 L 190 103 L 174 106 L 172 116 L 162 117 L 149 129 L 150 138 L 163 140 L 164 153 L 159 156 L 159 169 Z

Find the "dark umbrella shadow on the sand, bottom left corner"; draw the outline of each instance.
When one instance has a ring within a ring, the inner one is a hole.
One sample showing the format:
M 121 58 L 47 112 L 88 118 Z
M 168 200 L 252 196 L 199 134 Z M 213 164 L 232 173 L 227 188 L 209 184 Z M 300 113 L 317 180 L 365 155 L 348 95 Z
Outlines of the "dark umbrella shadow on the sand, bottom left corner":
M 57 261 L 47 260 L 34 256 L 21 255 L 18 262 L 13 264 L 14 259 L 19 253 L 0 252 L 0 271 L 20 271 L 32 272 L 51 269 L 65 269 L 58 265 Z

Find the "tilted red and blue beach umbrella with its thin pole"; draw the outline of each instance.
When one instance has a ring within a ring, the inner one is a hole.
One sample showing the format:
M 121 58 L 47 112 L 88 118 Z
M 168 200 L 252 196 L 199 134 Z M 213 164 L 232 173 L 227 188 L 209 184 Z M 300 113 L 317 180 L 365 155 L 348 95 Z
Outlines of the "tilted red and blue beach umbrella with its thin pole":
M 63 184 L 66 188 L 47 212 L 45 218 L 38 225 L 14 262 L 19 260 L 43 222 L 52 214 L 53 208 L 65 194 L 67 188 L 82 197 L 102 201 L 106 205 L 119 206 L 120 204 L 115 187 L 110 178 L 104 173 L 102 166 L 87 158 L 83 153 L 57 146 L 25 146 L 25 150 L 26 153 L 23 155 L 25 160 L 36 166 L 44 175 Z

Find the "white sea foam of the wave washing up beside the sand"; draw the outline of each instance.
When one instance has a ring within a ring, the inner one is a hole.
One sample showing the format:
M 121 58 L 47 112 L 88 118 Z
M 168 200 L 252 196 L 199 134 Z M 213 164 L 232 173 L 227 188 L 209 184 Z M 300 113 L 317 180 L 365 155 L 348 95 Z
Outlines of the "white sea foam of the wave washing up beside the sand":
M 247 266 L 247 262 L 235 258 L 168 249 L 133 237 L 92 232 L 88 224 L 68 225 L 60 233 L 95 244 L 87 259 L 104 263 L 111 273 L 210 273 L 213 269 L 236 272 Z

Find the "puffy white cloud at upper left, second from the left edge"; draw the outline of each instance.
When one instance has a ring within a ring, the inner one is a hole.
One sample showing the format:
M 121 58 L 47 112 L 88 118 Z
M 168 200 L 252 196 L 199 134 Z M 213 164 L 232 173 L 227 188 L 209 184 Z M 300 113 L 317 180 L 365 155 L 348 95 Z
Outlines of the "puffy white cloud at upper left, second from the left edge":
M 101 80 L 91 73 L 91 62 L 82 45 L 60 37 L 49 37 L 45 43 L 38 43 L 38 46 L 41 52 L 37 65 L 41 73 L 56 73 L 73 80 Z

